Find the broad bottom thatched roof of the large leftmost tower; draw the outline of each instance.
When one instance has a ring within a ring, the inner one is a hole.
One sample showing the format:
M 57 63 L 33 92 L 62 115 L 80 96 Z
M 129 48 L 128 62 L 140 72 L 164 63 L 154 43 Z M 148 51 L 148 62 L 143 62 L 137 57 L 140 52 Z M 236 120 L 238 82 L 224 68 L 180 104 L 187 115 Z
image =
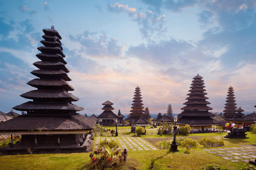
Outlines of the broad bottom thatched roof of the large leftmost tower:
M 93 129 L 96 121 L 88 116 L 74 115 L 20 115 L 0 124 L 0 130 L 78 130 Z

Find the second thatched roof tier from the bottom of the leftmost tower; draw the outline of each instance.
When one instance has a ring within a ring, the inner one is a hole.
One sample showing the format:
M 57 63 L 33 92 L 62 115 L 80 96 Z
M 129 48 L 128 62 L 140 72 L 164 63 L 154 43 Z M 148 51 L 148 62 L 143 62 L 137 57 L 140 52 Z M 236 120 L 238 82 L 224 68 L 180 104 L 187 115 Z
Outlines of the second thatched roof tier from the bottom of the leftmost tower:
M 26 102 L 15 106 L 13 109 L 19 111 L 67 111 L 76 112 L 82 111 L 84 108 L 78 107 L 72 103 L 65 102 Z

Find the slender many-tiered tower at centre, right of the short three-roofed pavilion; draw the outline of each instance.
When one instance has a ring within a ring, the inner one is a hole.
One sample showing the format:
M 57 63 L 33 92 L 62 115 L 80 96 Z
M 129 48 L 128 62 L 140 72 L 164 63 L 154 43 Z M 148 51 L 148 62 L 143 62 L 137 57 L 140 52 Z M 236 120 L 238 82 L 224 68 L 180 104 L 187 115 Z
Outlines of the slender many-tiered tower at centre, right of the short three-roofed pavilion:
M 132 102 L 134 102 L 132 104 L 131 107 L 131 111 L 132 113 L 130 113 L 128 115 L 128 118 L 125 119 L 126 121 L 128 121 L 132 126 L 142 126 L 145 128 L 145 133 L 146 133 L 146 126 L 148 126 L 149 122 L 147 119 L 145 119 L 144 117 L 146 116 L 143 112 L 145 112 L 143 109 L 144 107 L 142 106 L 143 102 L 141 99 L 141 92 L 140 92 L 140 88 L 137 86 L 135 88 L 135 95 L 134 95 L 134 100 Z M 133 131 L 133 130 L 132 130 Z

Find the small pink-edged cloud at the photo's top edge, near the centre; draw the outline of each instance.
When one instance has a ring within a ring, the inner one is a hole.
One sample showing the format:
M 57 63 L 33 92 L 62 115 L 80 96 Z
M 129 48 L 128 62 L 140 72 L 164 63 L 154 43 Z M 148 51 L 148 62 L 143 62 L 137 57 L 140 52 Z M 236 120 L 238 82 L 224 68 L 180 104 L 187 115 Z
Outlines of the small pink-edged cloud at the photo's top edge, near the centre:
M 120 14 L 121 12 L 127 12 L 127 15 L 130 17 L 133 16 L 136 9 L 135 8 L 129 8 L 128 5 L 120 5 L 119 3 L 115 3 L 114 5 L 108 4 L 108 11 L 115 12 L 117 14 Z

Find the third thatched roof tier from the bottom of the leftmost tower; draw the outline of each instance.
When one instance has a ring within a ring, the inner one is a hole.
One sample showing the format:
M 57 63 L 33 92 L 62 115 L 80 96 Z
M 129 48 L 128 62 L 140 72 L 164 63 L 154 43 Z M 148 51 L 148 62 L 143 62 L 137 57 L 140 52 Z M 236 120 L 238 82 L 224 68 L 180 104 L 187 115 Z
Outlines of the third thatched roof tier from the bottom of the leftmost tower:
M 27 93 L 20 95 L 26 99 L 38 99 L 38 100 L 69 100 L 72 102 L 78 101 L 79 99 L 66 91 L 49 91 L 49 90 L 32 90 Z

